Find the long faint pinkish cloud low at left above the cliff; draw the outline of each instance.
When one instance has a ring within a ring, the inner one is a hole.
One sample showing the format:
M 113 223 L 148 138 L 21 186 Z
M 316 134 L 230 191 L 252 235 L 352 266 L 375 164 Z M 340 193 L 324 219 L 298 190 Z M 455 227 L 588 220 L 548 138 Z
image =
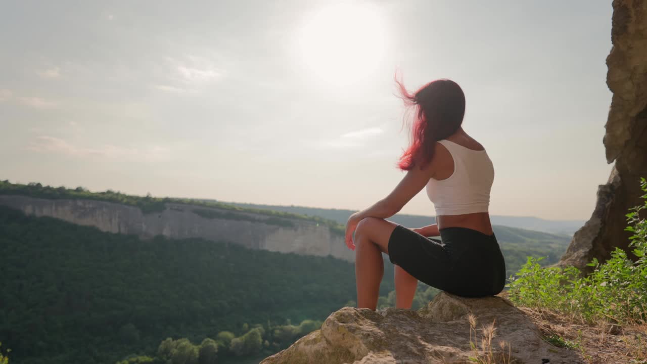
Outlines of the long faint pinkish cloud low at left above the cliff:
M 107 158 L 139 158 L 146 161 L 155 161 L 166 159 L 170 150 L 163 146 L 150 146 L 145 149 L 138 148 L 124 148 L 105 144 L 99 148 L 87 148 L 83 146 L 76 146 L 63 139 L 50 137 L 47 135 L 39 136 L 26 148 L 32 152 L 38 153 L 54 153 L 71 155 L 75 157 L 107 157 Z

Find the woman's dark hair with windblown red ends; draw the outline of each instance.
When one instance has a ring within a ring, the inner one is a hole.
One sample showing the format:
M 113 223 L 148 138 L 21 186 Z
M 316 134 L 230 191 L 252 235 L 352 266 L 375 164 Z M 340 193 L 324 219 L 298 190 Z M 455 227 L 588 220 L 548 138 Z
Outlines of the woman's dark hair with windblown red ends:
M 413 94 L 406 90 L 397 76 L 395 82 L 404 103 L 415 106 L 411 144 L 398 163 L 401 170 L 411 170 L 432 161 L 435 142 L 454 134 L 461 127 L 465 94 L 461 86 L 444 78 L 422 86 Z

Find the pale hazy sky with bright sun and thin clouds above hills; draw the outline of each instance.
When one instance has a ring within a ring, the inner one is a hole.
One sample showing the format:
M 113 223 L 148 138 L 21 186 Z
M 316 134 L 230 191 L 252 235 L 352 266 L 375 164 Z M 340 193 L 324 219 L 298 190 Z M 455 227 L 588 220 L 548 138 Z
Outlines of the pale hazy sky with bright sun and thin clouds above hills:
M 408 89 L 450 78 L 490 214 L 587 220 L 606 183 L 611 1 L 5 1 L 0 179 L 360 210 Z M 424 189 L 403 213 L 432 216 Z

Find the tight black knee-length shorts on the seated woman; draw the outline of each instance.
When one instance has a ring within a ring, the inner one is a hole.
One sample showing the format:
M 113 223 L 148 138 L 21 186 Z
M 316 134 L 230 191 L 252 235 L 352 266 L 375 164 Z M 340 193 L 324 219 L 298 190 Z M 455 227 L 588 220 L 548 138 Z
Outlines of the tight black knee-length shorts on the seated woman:
M 494 234 L 465 227 L 426 238 L 401 225 L 389 238 L 389 260 L 429 286 L 463 297 L 496 295 L 505 286 L 505 261 Z

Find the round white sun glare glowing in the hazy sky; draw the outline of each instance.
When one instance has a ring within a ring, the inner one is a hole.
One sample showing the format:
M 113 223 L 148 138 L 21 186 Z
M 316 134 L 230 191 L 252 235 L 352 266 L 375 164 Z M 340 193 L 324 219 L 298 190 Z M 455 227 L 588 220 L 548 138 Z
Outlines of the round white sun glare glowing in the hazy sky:
M 329 5 L 305 19 L 299 45 L 305 66 L 333 85 L 371 76 L 386 48 L 385 22 L 369 4 Z

